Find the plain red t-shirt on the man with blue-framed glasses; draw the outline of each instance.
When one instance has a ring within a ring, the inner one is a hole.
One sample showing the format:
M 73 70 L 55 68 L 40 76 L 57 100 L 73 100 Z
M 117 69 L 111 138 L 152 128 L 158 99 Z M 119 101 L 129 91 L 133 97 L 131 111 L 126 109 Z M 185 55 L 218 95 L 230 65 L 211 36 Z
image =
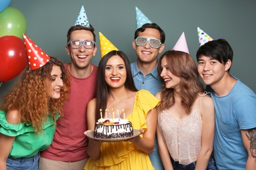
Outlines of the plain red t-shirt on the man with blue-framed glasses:
M 68 63 L 65 64 L 68 70 Z M 68 71 L 70 73 L 70 71 Z M 64 112 L 57 120 L 53 143 L 41 152 L 41 157 L 58 161 L 79 161 L 89 158 L 87 154 L 87 103 L 95 97 L 98 67 L 87 78 L 72 77 L 70 101 L 65 103 Z

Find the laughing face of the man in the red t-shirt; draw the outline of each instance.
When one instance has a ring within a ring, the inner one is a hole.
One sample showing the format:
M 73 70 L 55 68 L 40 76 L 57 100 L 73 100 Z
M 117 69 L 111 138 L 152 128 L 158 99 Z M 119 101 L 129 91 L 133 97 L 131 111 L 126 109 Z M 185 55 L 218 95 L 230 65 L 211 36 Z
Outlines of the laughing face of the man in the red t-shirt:
M 87 30 L 76 30 L 70 35 L 70 41 L 93 41 L 93 33 Z M 71 57 L 71 64 L 77 69 L 85 69 L 91 64 L 91 59 L 96 54 L 97 47 L 87 49 L 83 46 L 72 48 L 70 44 L 66 46 L 66 51 Z

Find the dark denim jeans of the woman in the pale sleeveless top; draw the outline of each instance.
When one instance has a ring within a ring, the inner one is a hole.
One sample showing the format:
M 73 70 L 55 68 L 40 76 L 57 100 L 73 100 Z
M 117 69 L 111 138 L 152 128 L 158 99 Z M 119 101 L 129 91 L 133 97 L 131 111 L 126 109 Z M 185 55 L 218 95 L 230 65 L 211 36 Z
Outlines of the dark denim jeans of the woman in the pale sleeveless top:
M 181 165 L 179 163 L 179 161 L 174 161 L 173 159 L 171 159 L 171 163 L 173 164 L 173 169 L 174 170 L 194 170 L 196 167 L 196 161 L 188 164 L 188 165 Z M 213 156 L 211 156 L 211 158 L 209 159 L 209 163 L 207 165 L 207 170 L 216 170 L 216 163 L 215 160 L 213 158 Z

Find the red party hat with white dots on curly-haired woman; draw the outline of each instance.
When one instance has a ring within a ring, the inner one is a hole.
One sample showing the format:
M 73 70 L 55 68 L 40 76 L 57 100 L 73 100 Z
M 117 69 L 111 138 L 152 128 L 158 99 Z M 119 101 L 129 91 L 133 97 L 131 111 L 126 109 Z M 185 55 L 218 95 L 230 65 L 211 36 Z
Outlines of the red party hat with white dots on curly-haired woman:
M 39 69 L 50 60 L 50 57 L 28 36 L 23 34 L 23 38 L 28 58 L 28 67 L 30 70 Z

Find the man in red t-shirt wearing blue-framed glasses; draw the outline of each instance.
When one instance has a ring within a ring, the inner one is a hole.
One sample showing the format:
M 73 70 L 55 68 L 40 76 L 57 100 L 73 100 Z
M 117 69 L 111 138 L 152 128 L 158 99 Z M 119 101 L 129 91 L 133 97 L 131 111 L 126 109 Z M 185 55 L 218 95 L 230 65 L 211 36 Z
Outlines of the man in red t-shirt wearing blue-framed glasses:
M 95 33 L 92 25 L 74 25 L 67 35 L 66 52 L 71 62 L 65 67 L 72 78 L 70 101 L 64 104 L 58 119 L 53 143 L 41 152 L 39 169 L 83 169 L 89 156 L 87 129 L 87 103 L 95 97 L 98 67 L 91 63 L 96 54 Z

